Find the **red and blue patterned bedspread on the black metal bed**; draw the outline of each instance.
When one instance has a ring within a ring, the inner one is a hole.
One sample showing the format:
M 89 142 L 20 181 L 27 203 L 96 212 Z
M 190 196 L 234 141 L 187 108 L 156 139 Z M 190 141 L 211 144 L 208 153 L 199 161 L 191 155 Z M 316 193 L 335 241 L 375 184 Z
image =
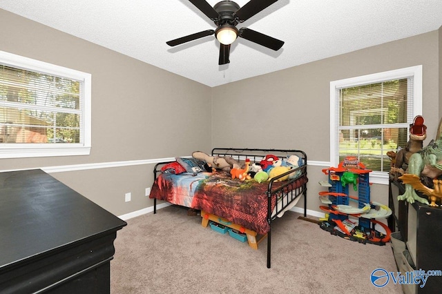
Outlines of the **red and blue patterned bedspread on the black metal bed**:
M 307 177 L 300 177 L 296 186 L 307 182 Z M 274 182 L 273 190 L 284 182 Z M 207 213 L 249 228 L 260 235 L 265 235 L 270 226 L 267 222 L 268 182 L 241 182 L 231 179 L 225 172 L 217 173 L 162 173 L 155 179 L 151 189 L 151 198 L 165 200 L 172 204 L 204 210 Z M 276 205 L 272 197 L 271 210 Z

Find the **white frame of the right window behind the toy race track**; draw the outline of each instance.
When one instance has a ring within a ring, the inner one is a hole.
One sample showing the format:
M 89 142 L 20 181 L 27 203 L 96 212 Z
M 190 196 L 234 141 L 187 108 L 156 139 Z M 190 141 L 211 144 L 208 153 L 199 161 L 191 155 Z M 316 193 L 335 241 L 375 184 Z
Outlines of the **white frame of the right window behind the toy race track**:
M 349 79 L 340 79 L 330 82 L 330 165 L 338 166 L 338 117 L 336 116 L 336 107 L 338 98 L 336 92 L 340 88 L 349 88 L 355 86 L 363 86 L 367 84 L 376 84 L 381 81 L 390 81 L 393 79 L 405 79 L 413 77 L 413 101 L 412 113 L 413 118 L 416 115 L 422 115 L 422 66 L 411 66 L 409 68 L 401 68 L 398 70 L 390 70 L 386 72 L 378 72 L 372 75 L 364 75 L 361 77 L 352 77 Z M 409 121 L 408 124 L 412 124 Z M 370 182 L 375 184 L 388 184 L 388 173 L 373 171 L 370 173 Z

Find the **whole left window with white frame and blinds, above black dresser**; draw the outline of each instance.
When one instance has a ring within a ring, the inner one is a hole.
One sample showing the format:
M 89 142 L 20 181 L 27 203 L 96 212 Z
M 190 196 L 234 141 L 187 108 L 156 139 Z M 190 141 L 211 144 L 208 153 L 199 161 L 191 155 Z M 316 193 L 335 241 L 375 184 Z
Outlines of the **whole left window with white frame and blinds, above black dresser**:
M 0 51 L 0 158 L 88 155 L 91 76 Z

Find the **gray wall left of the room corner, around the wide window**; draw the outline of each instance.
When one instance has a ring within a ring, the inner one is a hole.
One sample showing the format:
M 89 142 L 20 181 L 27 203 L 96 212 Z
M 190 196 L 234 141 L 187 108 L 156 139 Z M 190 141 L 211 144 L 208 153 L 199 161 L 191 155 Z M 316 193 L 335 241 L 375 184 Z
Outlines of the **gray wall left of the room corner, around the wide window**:
M 0 159 L 0 170 L 101 164 L 210 150 L 211 88 L 0 10 L 0 50 L 92 74 L 92 150 L 88 156 Z M 123 215 L 151 206 L 153 165 L 52 173 Z M 124 202 L 131 192 L 132 201 Z

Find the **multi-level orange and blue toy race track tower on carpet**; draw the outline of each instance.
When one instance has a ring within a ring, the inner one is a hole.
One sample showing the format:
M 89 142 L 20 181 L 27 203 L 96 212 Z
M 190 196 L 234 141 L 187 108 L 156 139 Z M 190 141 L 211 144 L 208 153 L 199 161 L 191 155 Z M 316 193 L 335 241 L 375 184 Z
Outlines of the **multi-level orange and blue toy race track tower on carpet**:
M 390 241 L 390 228 L 376 218 L 386 218 L 392 210 L 378 202 L 370 202 L 369 173 L 356 157 L 347 157 L 338 168 L 323 170 L 328 175 L 328 182 L 320 182 L 327 187 L 327 191 L 319 193 L 320 201 L 324 206 L 319 206 L 326 212 L 320 219 L 319 226 L 332 235 L 363 244 L 370 243 L 385 245 Z M 349 195 L 349 186 L 353 184 L 357 196 Z M 349 205 L 349 201 L 356 202 L 357 207 Z M 352 218 L 352 219 L 350 219 Z M 376 225 L 381 226 L 385 233 L 376 231 Z

